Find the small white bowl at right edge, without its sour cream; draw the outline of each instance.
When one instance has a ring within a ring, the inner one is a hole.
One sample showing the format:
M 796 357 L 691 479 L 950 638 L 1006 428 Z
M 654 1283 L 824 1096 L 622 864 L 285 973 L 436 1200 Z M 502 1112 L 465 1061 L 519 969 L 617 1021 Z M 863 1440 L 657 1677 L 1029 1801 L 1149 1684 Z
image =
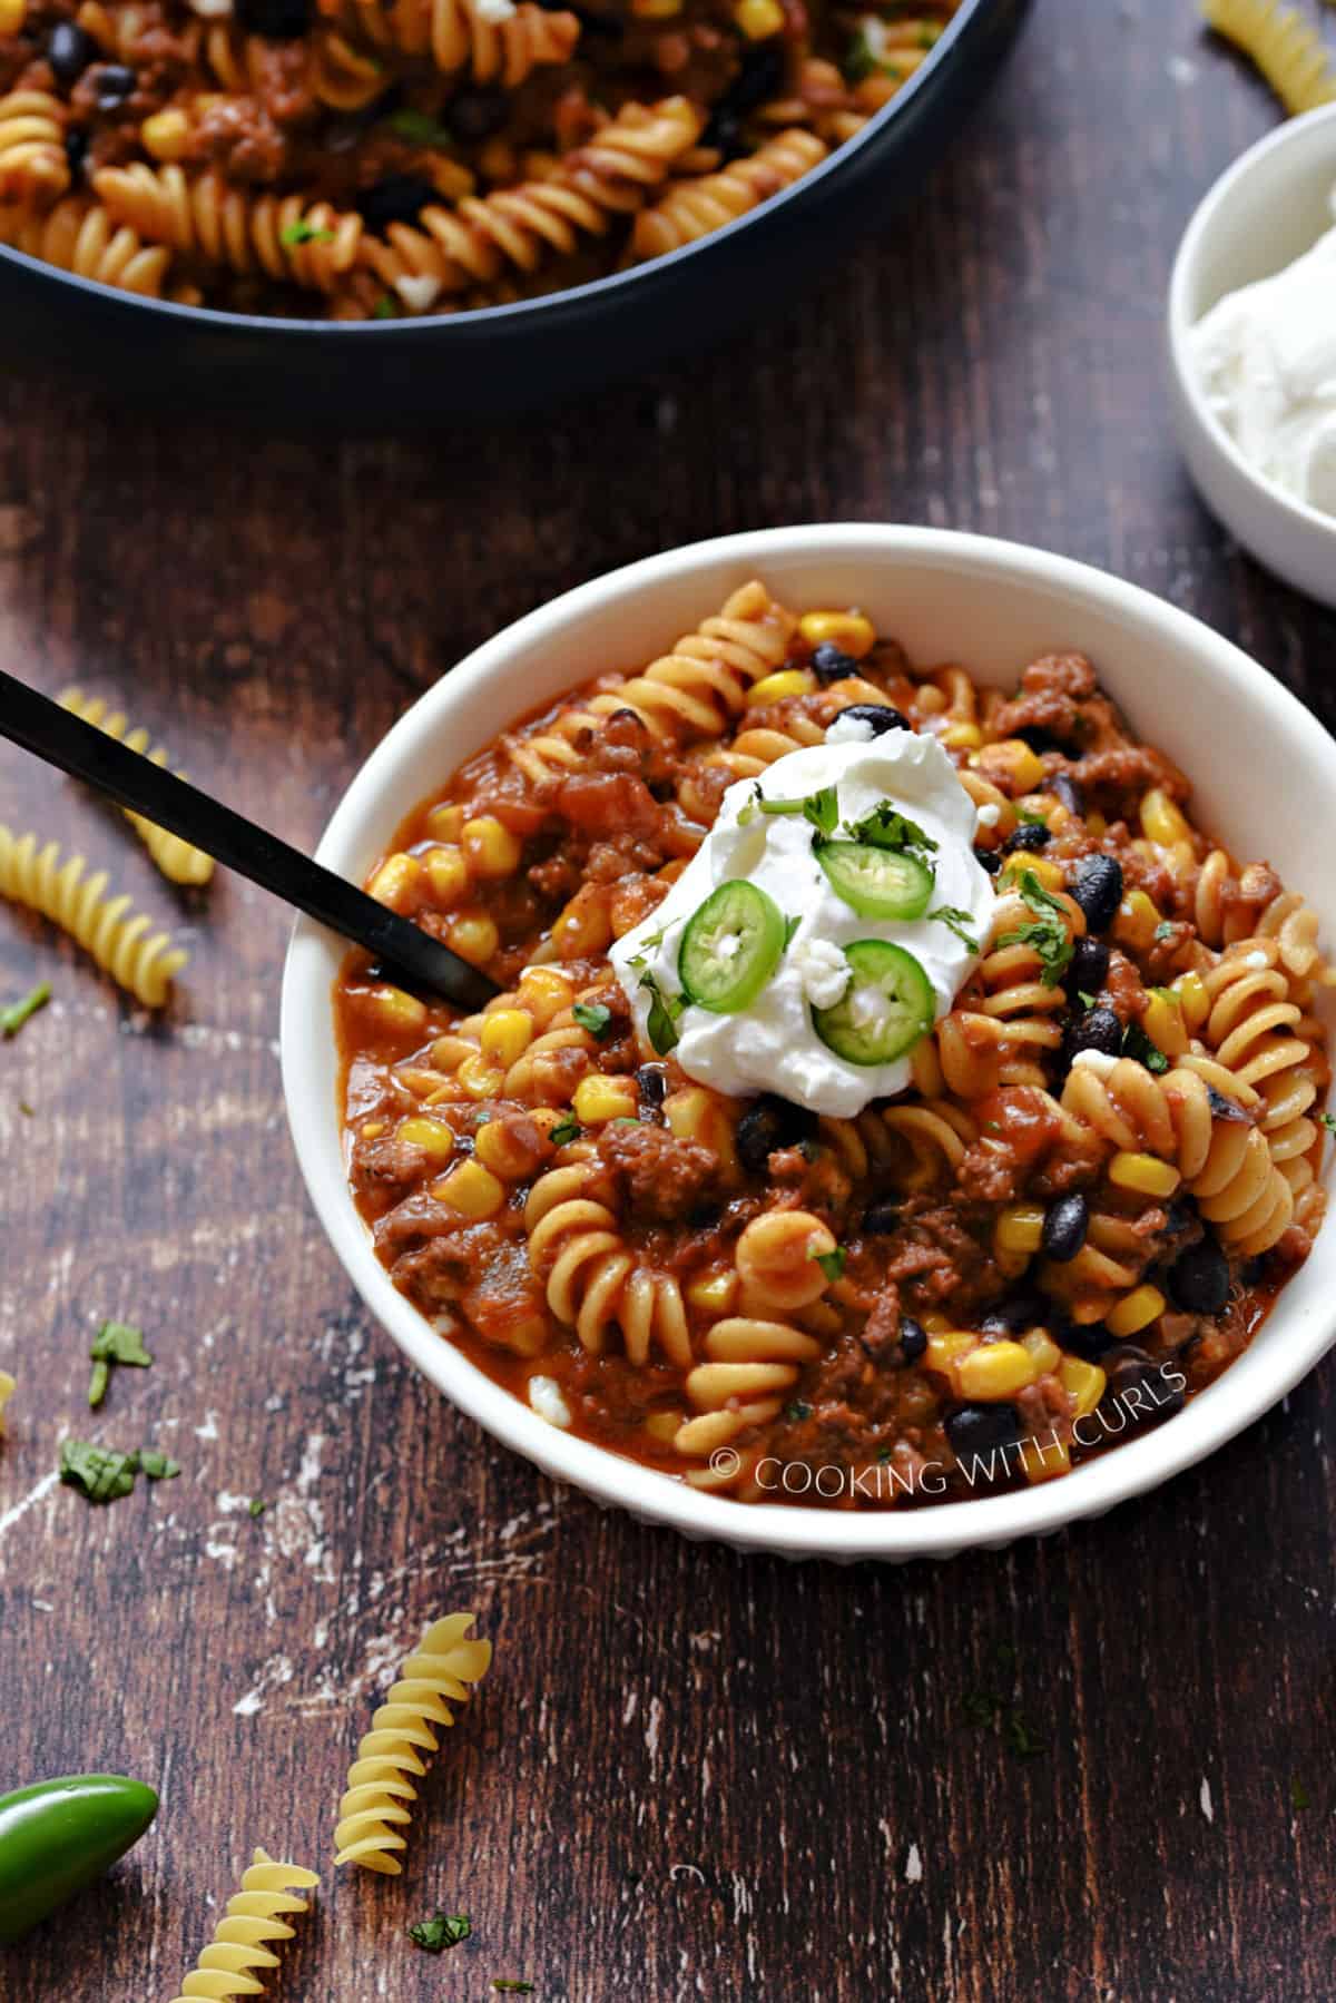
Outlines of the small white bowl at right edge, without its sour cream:
M 1174 258 L 1168 351 L 1174 427 L 1214 515 L 1276 577 L 1336 605 L 1336 521 L 1296 501 L 1244 459 L 1212 413 L 1188 347 L 1226 292 L 1272 278 L 1332 226 L 1336 104 L 1290 118 L 1220 176 Z

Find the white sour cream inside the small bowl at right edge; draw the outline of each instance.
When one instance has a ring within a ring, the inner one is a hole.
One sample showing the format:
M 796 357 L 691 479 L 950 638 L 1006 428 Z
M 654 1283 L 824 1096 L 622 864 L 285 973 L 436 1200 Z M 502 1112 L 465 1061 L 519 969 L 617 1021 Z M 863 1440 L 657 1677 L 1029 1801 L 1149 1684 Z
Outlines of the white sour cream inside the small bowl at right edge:
M 1336 228 L 1274 278 L 1212 306 L 1192 330 L 1192 357 L 1244 459 L 1336 515 Z

